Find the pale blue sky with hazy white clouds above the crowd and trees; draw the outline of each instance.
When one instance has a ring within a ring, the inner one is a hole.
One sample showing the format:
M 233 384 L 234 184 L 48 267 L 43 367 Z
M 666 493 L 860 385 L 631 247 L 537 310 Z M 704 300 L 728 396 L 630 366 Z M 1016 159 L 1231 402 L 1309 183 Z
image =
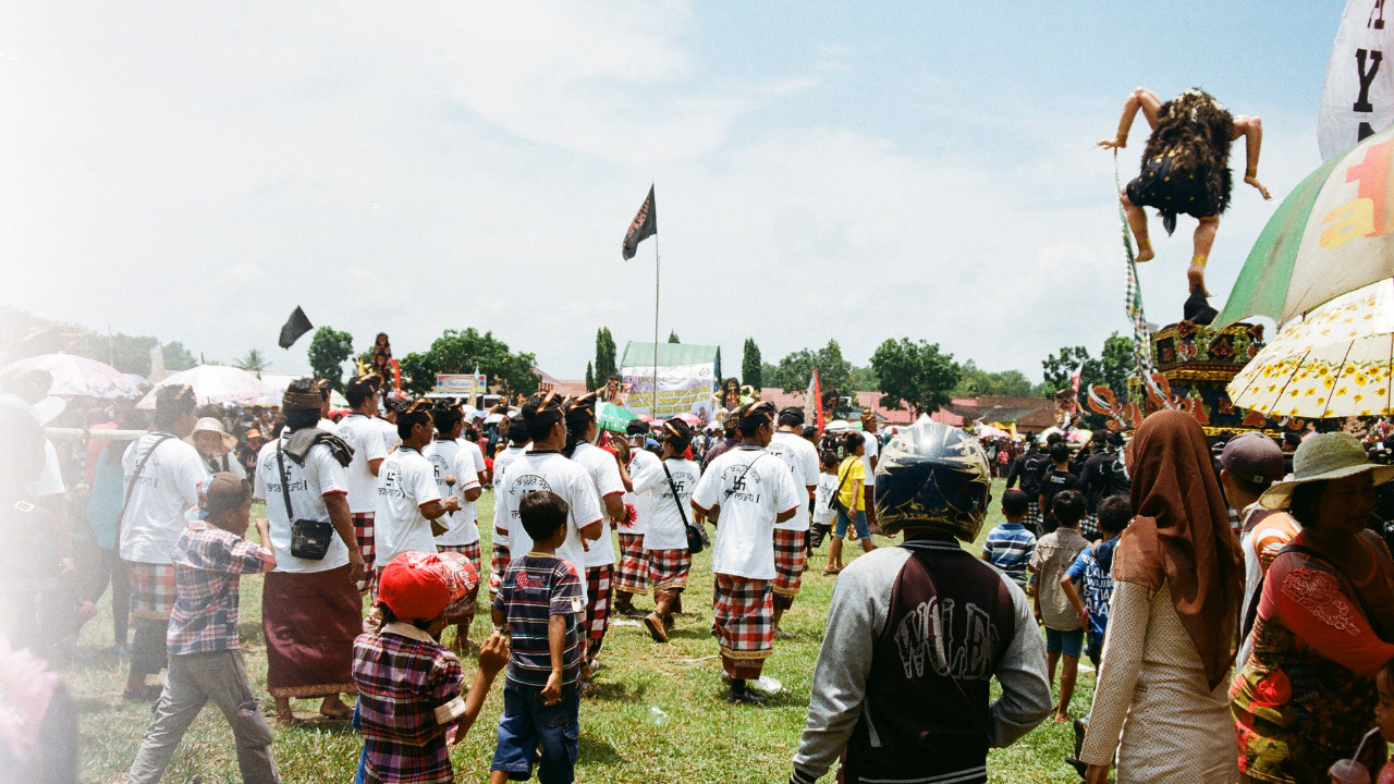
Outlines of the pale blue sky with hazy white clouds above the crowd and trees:
M 0 24 L 0 303 L 276 346 L 296 306 L 367 349 L 492 331 L 579 378 L 599 326 L 739 368 L 926 339 L 1039 379 L 1129 333 L 1115 165 L 1139 85 L 1263 119 L 1211 252 L 1220 307 L 1319 163 L 1342 4 L 45 3 Z M 1139 117 L 1124 181 L 1146 142 Z M 1242 167 L 1242 144 L 1232 152 Z M 622 261 L 650 184 L 658 237 Z M 1195 222 L 1144 265 L 1181 317 Z

